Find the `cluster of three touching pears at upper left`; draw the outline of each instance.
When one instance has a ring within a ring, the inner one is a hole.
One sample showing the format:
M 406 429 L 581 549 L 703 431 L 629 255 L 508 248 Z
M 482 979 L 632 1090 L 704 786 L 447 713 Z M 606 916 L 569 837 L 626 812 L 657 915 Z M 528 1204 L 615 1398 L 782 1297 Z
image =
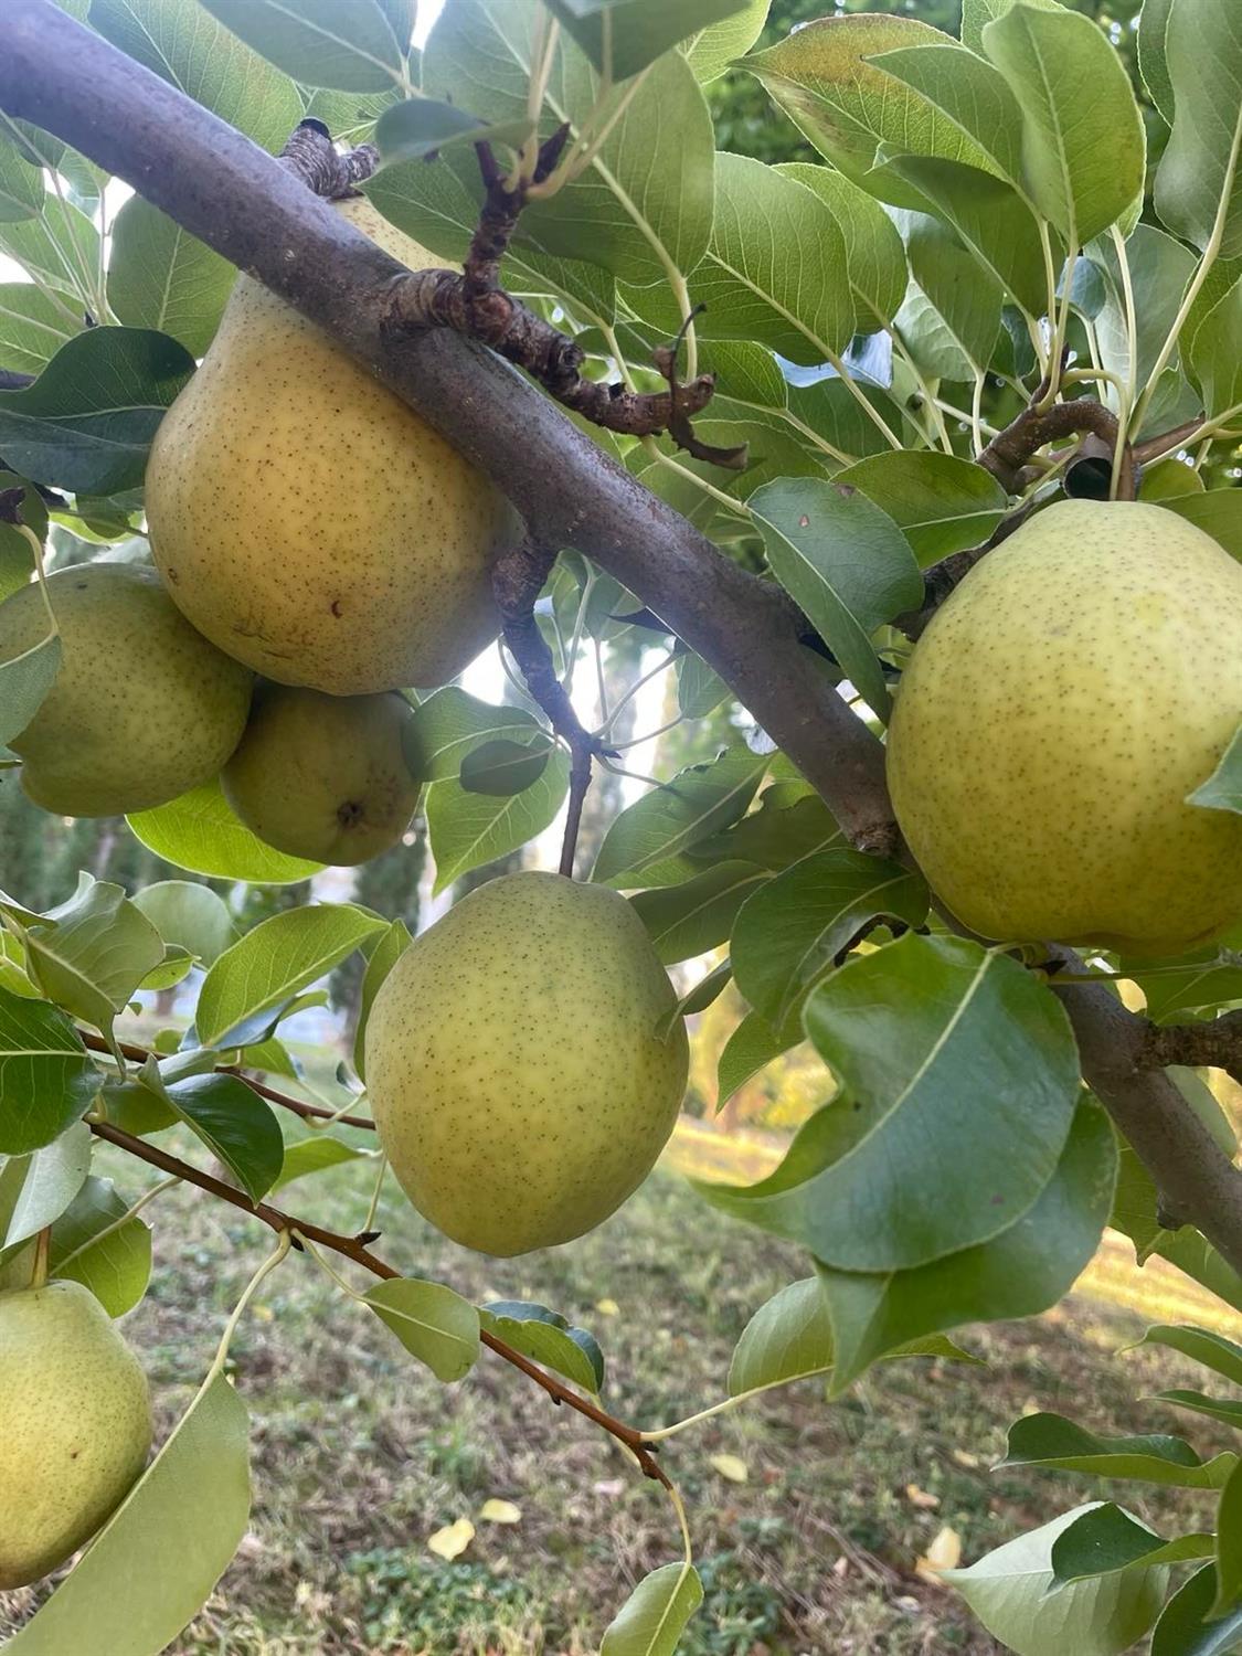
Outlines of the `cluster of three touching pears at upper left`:
M 369 202 L 338 210 L 411 268 L 437 263 Z M 12 742 L 30 798 L 109 816 L 219 775 L 280 851 L 361 863 L 394 845 L 419 795 L 399 691 L 444 684 L 495 634 L 502 497 L 238 277 L 156 434 L 146 512 L 154 568 L 48 578 L 61 667 Z M 0 659 L 46 633 L 35 583 L 0 604 Z

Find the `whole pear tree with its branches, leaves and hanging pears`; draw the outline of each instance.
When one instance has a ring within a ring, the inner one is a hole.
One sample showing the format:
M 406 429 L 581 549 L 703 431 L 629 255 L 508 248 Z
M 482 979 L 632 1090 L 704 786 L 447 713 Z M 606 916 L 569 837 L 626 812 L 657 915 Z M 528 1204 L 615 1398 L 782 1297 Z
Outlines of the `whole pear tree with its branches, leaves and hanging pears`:
M 783 40 L 767 0 L 447 0 L 419 46 L 412 0 L 5 0 L 0 787 L 185 873 L 0 894 L 0 1586 L 79 1553 L 13 1656 L 157 1656 L 197 1615 L 273 1273 L 323 1270 L 427 1384 L 505 1365 L 624 1447 L 669 1558 L 603 1656 L 700 1613 L 704 1418 L 969 1360 L 1106 1225 L 1242 1315 L 1237 3 L 1146 0 L 1131 81 L 1060 0 Z M 725 71 L 815 159 L 717 151 Z M 621 646 L 628 704 L 729 709 L 719 752 L 633 772 Z M 455 682 L 484 647 L 517 700 Z M 349 901 L 247 929 L 199 883 L 353 866 L 416 811 L 437 889 L 553 826 L 558 871 L 417 937 Z M 351 957 L 316 1101 L 282 1027 Z M 538 1280 L 649 1172 L 730 982 L 719 1101 L 802 1043 L 838 1090 L 770 1177 L 699 1187 L 806 1264 L 679 1421 L 623 1418 L 558 1312 L 277 1189 L 364 1139 Z M 174 985 L 189 1027 L 132 1040 Z M 255 1257 L 152 1447 L 118 1320 L 174 1182 Z M 1100 1499 L 942 1575 L 1018 1656 L 1242 1648 L 1242 1346 L 1146 1340 L 1212 1393 L 1143 1437 L 1023 1416 L 1005 1464 Z M 1214 1519 L 1158 1533 L 1114 1480 Z

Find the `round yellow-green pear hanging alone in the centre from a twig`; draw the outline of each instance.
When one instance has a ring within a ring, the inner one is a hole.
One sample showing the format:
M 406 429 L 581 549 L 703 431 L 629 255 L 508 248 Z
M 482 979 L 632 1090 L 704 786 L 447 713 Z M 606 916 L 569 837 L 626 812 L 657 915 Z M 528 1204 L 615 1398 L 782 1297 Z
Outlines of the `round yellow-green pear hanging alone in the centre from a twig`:
M 454 1242 L 527 1254 L 643 1182 L 686 1090 L 677 997 L 634 909 L 560 874 L 505 874 L 422 932 L 366 1028 L 379 1143 Z

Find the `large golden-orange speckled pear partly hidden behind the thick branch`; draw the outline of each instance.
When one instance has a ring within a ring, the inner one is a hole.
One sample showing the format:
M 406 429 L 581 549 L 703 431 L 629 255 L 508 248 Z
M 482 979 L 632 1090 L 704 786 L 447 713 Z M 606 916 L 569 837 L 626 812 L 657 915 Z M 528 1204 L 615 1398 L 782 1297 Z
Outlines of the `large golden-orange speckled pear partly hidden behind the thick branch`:
M 336 205 L 412 270 L 442 263 L 368 200 Z M 184 613 L 282 684 L 333 696 L 444 684 L 498 631 L 502 497 L 250 277 L 159 426 L 146 508 Z

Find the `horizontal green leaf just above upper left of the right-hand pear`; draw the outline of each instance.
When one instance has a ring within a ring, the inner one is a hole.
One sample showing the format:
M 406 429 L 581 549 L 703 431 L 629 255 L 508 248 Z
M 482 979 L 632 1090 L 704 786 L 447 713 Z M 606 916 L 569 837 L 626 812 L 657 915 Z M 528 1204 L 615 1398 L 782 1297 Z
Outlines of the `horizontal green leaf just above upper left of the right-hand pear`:
M 838 472 L 833 484 L 853 485 L 874 500 L 922 568 L 987 540 L 1007 510 L 1005 490 L 982 465 L 931 450 L 873 454 Z

